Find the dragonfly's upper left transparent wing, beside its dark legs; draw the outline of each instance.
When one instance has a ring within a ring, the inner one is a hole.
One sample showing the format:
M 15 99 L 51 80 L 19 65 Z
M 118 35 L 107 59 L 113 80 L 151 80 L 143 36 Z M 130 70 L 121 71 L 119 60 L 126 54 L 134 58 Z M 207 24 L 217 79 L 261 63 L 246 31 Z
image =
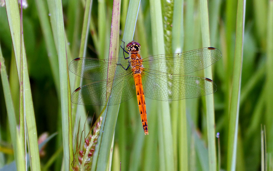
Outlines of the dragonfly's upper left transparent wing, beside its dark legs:
M 69 64 L 69 70 L 85 79 L 89 80 L 106 80 L 107 79 L 107 69 L 108 69 L 108 59 L 94 59 L 94 58 L 76 58 Z M 123 74 L 124 72 L 131 72 L 130 68 L 125 71 L 130 62 L 124 58 L 114 58 L 109 62 L 111 65 L 109 69 L 116 66 L 115 75 Z

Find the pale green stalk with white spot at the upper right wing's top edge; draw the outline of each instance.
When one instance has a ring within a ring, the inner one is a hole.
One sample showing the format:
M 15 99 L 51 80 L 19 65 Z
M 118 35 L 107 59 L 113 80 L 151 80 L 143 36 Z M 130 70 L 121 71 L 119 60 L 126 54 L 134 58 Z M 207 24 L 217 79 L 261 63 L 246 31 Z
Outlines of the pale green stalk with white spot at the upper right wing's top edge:
M 183 50 L 184 29 L 183 29 L 183 3 L 184 1 L 175 0 L 173 5 L 172 27 L 172 52 L 180 53 Z M 180 74 L 180 73 L 177 73 Z M 171 102 L 171 120 L 173 135 L 173 157 L 175 169 L 179 166 L 180 170 L 188 169 L 188 145 L 187 145 L 187 124 L 186 124 L 186 101 Z M 179 156 L 179 160 L 178 160 Z M 179 162 L 178 162 L 179 161 Z

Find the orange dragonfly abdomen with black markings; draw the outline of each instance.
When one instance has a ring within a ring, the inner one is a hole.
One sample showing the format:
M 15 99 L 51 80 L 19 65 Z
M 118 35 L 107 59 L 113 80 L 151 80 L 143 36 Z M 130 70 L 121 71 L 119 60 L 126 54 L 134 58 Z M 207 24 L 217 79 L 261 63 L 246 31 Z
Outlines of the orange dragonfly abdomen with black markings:
M 134 74 L 134 80 L 135 80 L 136 93 L 137 93 L 137 104 L 138 104 L 139 114 L 142 121 L 142 127 L 143 127 L 145 135 L 148 135 L 146 103 L 145 103 L 144 91 L 143 91 L 143 86 L 141 81 L 141 74 L 140 73 Z

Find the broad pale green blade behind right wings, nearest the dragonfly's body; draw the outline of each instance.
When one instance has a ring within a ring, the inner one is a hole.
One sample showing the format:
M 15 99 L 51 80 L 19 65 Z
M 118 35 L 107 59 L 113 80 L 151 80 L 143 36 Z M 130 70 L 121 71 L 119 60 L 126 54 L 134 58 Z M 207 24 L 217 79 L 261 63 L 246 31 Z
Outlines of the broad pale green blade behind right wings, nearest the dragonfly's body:
M 164 54 L 164 31 L 160 1 L 150 0 L 153 54 Z M 159 17 L 160 16 L 160 17 Z M 163 71 L 164 72 L 164 71 Z M 174 170 L 171 115 L 168 102 L 158 102 L 159 168 Z

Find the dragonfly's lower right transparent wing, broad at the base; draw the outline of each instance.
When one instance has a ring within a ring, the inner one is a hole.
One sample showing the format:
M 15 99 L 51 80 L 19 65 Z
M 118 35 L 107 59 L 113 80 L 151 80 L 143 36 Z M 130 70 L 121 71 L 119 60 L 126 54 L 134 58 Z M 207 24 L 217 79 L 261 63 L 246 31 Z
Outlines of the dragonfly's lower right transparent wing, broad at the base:
M 142 84 L 145 97 L 160 101 L 175 101 L 214 93 L 216 84 L 203 77 L 167 74 L 145 69 Z

